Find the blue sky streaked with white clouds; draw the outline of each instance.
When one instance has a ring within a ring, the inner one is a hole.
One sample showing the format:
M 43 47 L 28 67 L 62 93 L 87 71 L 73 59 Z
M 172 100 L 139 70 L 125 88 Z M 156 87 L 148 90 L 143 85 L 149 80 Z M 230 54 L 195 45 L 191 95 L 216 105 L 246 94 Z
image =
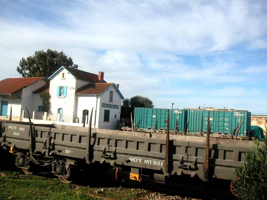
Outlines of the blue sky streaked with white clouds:
M 0 0 L 0 80 L 53 49 L 156 108 L 267 114 L 266 1 Z

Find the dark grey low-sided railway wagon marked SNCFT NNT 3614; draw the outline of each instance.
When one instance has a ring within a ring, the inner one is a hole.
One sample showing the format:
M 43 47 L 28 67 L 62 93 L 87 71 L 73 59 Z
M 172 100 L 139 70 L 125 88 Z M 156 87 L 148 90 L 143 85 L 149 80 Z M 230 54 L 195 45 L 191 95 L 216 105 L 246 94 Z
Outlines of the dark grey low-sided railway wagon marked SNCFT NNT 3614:
M 25 173 L 36 165 L 50 167 L 63 182 L 70 182 L 79 167 L 106 163 L 127 169 L 132 180 L 141 181 L 147 173 L 165 183 L 168 177 L 182 175 L 204 181 L 235 178 L 235 167 L 253 146 L 253 141 L 208 136 L 55 127 L 2 122 L 1 147 L 16 157 L 15 165 Z

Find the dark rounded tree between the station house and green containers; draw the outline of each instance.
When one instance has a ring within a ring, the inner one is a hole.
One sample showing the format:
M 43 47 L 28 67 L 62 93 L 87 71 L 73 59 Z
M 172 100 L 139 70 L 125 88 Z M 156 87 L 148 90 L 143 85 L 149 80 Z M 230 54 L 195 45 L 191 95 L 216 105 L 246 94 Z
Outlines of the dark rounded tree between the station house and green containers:
M 121 117 L 130 118 L 131 112 L 134 113 L 134 108 L 140 107 L 140 108 L 153 108 L 153 102 L 147 98 L 142 97 L 139 95 L 131 97 L 131 99 L 125 99 L 123 100 L 122 106 L 121 106 Z

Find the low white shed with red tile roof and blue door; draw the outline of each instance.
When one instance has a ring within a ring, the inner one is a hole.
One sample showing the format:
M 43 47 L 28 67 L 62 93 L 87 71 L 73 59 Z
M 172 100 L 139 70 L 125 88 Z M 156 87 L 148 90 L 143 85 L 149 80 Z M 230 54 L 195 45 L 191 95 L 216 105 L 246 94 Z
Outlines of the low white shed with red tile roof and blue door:
M 43 77 L 32 78 L 8 78 L 0 81 L 0 119 L 9 119 L 12 107 L 12 120 L 20 120 L 23 111 L 28 108 L 30 116 L 33 111 L 41 112 L 42 100 L 39 95 L 34 95 L 34 91 L 47 85 Z M 24 116 L 27 117 L 25 114 Z

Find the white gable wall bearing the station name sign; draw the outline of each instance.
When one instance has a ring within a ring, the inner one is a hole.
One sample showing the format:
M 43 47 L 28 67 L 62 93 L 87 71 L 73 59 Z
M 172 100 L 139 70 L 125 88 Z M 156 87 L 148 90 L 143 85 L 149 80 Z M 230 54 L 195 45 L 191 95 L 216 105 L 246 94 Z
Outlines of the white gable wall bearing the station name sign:
M 116 129 L 117 121 L 120 120 L 120 107 L 121 107 L 121 96 L 117 92 L 116 86 L 110 87 L 106 90 L 100 100 L 100 109 L 99 109 L 99 126 L 100 129 Z M 109 91 L 113 91 L 113 102 L 109 102 Z M 115 108 L 104 108 L 102 103 L 119 105 L 119 109 Z M 104 121 L 104 110 L 109 110 L 109 122 Z M 116 119 L 115 119 L 115 115 Z

